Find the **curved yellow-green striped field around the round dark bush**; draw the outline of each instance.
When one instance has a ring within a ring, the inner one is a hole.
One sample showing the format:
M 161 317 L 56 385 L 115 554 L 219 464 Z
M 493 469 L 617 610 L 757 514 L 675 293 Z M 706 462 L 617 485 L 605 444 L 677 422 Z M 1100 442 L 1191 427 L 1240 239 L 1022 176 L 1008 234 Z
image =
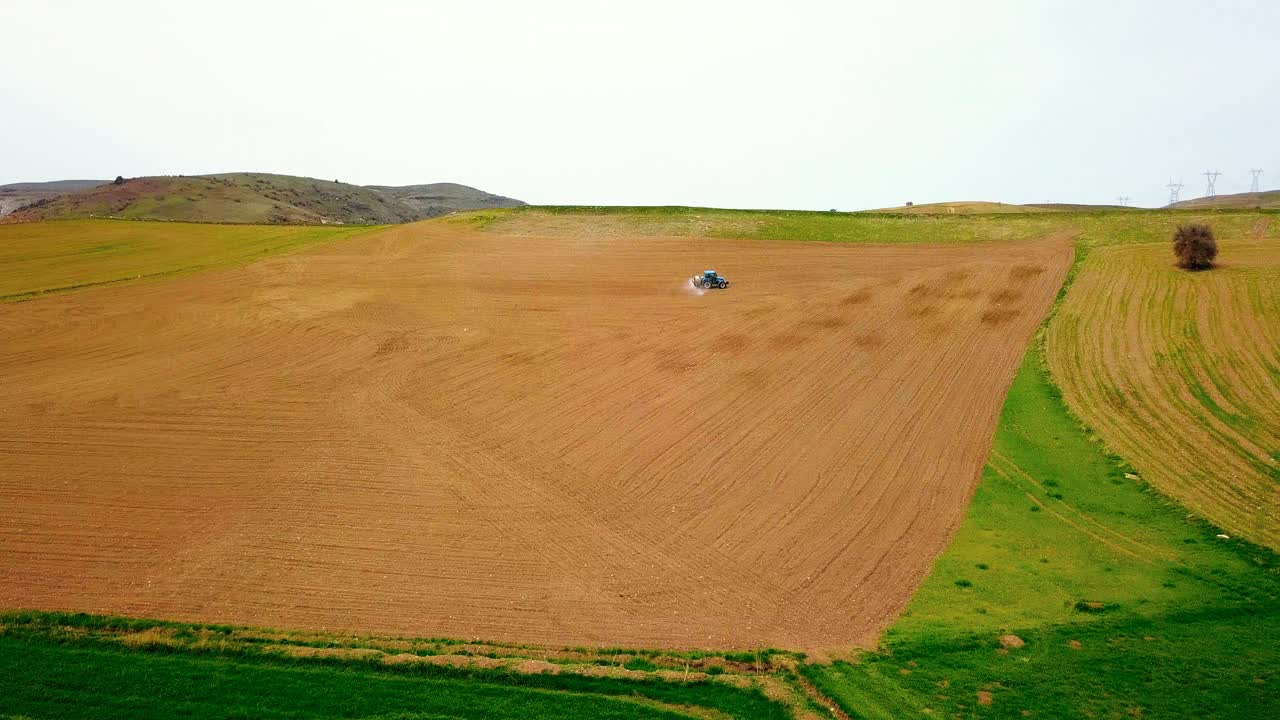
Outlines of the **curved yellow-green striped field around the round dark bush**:
M 1280 548 L 1280 223 L 1215 223 L 1219 266 L 1167 238 L 1096 246 L 1047 329 L 1073 413 L 1161 492 Z

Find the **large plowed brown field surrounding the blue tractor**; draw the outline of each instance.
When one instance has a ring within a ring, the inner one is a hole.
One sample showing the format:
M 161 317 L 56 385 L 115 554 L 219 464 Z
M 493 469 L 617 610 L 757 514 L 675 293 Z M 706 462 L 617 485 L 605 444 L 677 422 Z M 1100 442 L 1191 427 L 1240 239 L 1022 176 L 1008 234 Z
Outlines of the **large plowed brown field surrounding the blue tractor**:
M 1070 256 L 425 223 L 0 306 L 0 606 L 873 643 Z

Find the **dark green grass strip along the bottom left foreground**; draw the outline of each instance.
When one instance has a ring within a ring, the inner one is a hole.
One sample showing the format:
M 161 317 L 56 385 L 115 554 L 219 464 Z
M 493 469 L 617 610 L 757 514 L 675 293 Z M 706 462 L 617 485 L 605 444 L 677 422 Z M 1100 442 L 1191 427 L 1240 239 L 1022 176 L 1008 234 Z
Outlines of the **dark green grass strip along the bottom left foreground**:
M 732 674 L 695 673 L 684 682 L 653 674 L 521 673 L 419 661 L 440 651 L 435 641 L 398 641 L 392 643 L 397 650 L 387 652 L 372 650 L 376 644 L 315 637 L 296 642 L 287 633 L 220 625 L 12 612 L 0 615 L 0 717 L 791 716 L 750 678 Z M 452 660 L 466 660 L 457 655 L 466 651 L 448 642 L 444 647 L 456 653 Z M 337 652 L 296 655 L 316 648 Z M 730 678 L 733 682 L 726 682 Z

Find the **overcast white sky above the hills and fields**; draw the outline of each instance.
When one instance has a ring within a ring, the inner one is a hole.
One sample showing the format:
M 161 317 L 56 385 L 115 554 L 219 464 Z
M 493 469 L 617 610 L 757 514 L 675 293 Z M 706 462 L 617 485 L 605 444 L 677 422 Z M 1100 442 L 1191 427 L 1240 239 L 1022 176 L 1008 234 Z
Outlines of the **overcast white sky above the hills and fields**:
M 262 170 L 536 204 L 1280 187 L 1280 1 L 4 1 L 0 183 Z

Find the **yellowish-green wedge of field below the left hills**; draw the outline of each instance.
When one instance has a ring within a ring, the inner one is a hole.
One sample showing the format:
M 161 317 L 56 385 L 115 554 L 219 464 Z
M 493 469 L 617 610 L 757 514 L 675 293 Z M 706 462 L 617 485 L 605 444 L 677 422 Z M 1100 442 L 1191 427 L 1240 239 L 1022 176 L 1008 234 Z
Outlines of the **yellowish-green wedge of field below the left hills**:
M 0 301 L 241 265 L 371 229 L 124 220 L 0 224 Z

